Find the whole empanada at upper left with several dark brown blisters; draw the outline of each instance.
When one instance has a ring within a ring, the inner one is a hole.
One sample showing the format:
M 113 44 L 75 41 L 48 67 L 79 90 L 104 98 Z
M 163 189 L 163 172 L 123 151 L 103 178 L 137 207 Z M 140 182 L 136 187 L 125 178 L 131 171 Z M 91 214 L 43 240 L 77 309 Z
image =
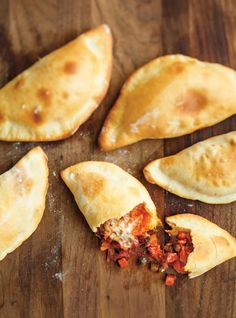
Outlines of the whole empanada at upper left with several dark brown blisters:
M 71 136 L 99 106 L 112 67 L 112 37 L 99 26 L 40 59 L 0 90 L 0 140 Z

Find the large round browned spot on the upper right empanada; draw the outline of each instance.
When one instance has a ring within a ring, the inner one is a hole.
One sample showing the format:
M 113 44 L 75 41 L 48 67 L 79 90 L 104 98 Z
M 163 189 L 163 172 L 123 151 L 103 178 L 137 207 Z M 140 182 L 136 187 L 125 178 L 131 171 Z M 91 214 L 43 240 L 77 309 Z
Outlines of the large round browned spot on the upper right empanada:
M 207 98 L 201 92 L 192 89 L 178 97 L 175 106 L 182 113 L 195 114 L 207 106 Z

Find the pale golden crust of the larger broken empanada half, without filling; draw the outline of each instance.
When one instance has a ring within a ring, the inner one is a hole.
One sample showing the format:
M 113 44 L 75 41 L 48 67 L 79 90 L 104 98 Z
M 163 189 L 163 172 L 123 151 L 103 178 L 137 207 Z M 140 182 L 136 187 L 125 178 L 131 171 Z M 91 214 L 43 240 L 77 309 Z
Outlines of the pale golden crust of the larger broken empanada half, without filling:
M 109 162 L 86 161 L 61 172 L 92 231 L 109 219 L 120 219 L 139 204 L 151 215 L 150 229 L 160 220 L 145 187 L 129 173 Z

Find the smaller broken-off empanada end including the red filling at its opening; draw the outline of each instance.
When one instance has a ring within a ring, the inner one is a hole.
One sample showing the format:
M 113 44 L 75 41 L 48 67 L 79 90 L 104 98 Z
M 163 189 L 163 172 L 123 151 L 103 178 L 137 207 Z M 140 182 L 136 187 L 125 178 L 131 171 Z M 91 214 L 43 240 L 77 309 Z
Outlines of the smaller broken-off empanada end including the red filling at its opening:
M 170 237 L 174 236 L 172 254 L 178 255 L 177 260 L 169 265 L 177 272 L 188 272 L 189 278 L 197 277 L 236 256 L 236 239 L 199 215 L 169 216 L 166 218 L 166 222 L 172 227 L 172 230 L 169 231 Z M 186 236 L 184 233 L 190 234 L 190 243 L 187 242 L 188 235 Z M 182 264 L 181 257 L 183 258 Z

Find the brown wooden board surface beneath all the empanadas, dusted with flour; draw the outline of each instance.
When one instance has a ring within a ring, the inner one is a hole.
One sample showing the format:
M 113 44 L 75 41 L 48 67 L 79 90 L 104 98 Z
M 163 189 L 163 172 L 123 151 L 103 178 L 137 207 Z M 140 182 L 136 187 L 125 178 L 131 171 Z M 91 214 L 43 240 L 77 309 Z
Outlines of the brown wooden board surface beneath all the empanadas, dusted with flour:
M 231 131 L 236 118 L 188 136 L 142 141 L 111 153 L 97 147 L 98 132 L 122 83 L 150 59 L 183 53 L 236 69 L 236 2 L 0 0 L 0 84 L 101 23 L 109 24 L 114 36 L 109 92 L 73 137 L 41 144 L 50 166 L 47 207 L 37 231 L 0 263 L 0 317 L 236 317 L 235 259 L 199 278 L 180 280 L 172 288 L 164 286 L 161 275 L 146 269 L 120 270 L 107 264 L 59 177 L 61 169 L 79 161 L 114 162 L 147 186 L 162 217 L 197 213 L 236 235 L 236 204 L 184 200 L 148 184 L 142 175 L 151 159 Z M 0 142 L 0 173 L 36 144 Z

